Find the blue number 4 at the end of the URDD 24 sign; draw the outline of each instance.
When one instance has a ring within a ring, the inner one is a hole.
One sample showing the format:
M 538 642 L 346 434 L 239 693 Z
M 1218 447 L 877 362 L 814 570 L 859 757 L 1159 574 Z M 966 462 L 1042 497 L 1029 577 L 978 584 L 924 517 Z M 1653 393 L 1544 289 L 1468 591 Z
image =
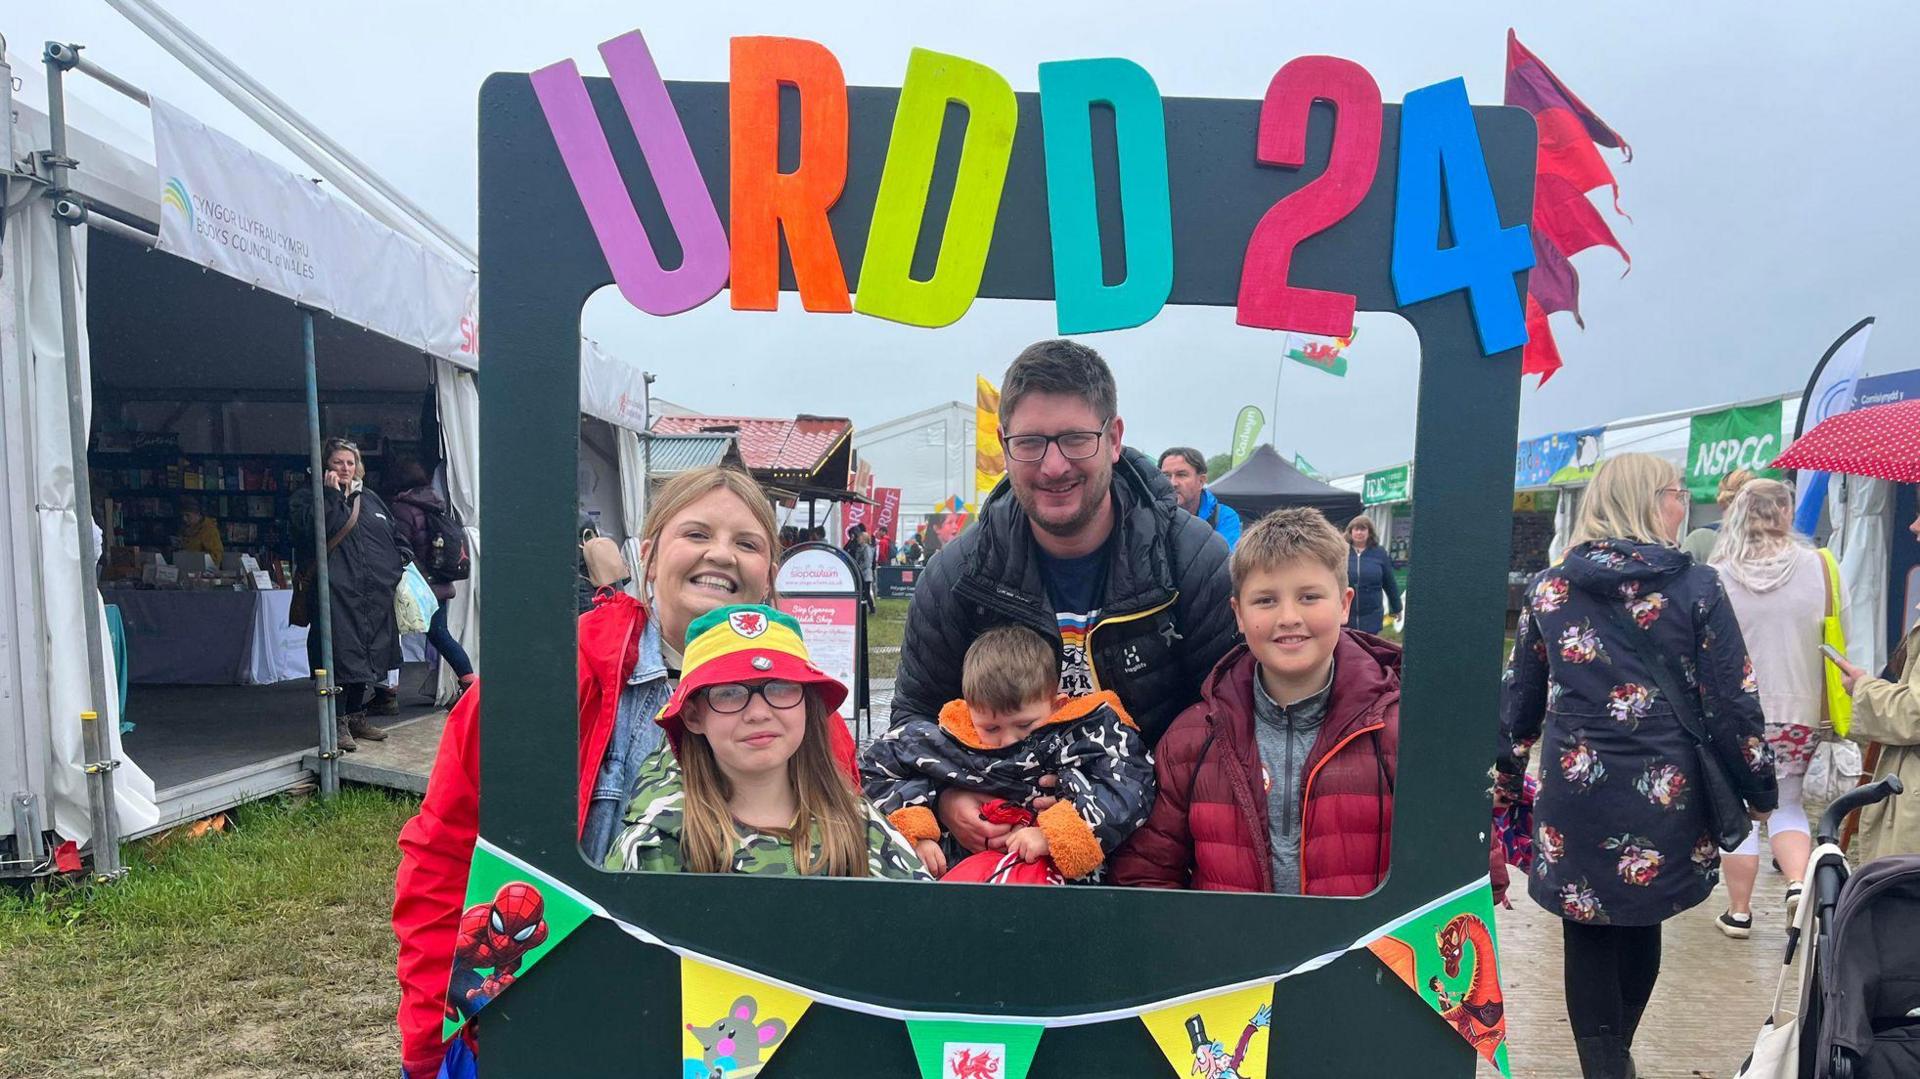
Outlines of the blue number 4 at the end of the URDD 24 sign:
M 1436 248 L 1442 175 L 1452 248 Z M 1463 79 L 1413 90 L 1400 106 L 1396 184 L 1394 298 L 1400 305 L 1465 288 L 1484 355 L 1524 346 L 1526 313 L 1513 275 L 1532 269 L 1534 244 L 1524 225 L 1500 227 Z

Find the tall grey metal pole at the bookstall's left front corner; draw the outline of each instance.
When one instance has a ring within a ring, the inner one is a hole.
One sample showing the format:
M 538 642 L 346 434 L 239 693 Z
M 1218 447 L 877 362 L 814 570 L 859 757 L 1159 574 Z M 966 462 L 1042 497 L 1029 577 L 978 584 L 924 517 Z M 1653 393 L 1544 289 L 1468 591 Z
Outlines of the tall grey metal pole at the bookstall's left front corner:
M 81 712 L 86 753 L 86 803 L 94 827 L 94 879 L 113 881 L 127 870 L 119 860 L 119 814 L 113 806 L 113 739 L 102 731 L 98 714 L 108 712 L 108 672 L 100 660 L 100 549 L 94 545 L 94 492 L 86 474 L 86 371 L 81 367 L 81 311 L 75 296 L 73 228 L 86 211 L 67 198 L 67 96 L 61 79 L 73 67 L 75 50 L 46 42 L 46 119 L 48 180 L 54 194 L 54 252 L 60 273 L 60 348 L 67 359 L 67 449 L 73 470 L 73 522 L 81 541 L 81 622 L 86 626 L 86 676 L 92 707 Z M 108 712 L 109 716 L 113 712 Z

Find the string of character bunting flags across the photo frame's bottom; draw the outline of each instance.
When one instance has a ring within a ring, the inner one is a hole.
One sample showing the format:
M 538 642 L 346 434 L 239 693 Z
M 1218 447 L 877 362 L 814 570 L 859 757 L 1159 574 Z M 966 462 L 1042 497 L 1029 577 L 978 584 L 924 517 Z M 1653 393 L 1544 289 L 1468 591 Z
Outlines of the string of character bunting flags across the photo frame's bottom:
M 904 1023 L 922 1077 L 1025 1079 L 1048 1027 L 1137 1018 L 1181 1077 L 1261 1079 L 1267 1073 L 1271 1043 L 1273 985 L 1313 973 L 1359 948 L 1373 950 L 1501 1071 L 1507 1060 L 1500 964 L 1492 933 L 1494 893 L 1484 875 L 1421 902 L 1350 943 L 1334 941 L 1327 952 L 1288 970 L 1175 998 L 1069 1016 L 975 1016 L 900 1008 L 760 975 L 672 945 L 645 925 L 616 918 L 593 899 L 541 874 L 486 837 L 474 845 L 468 895 L 490 899 L 474 904 L 461 922 L 453 985 L 455 991 L 488 979 L 495 985 L 486 998 L 468 1000 L 457 1021 L 449 1019 L 447 1037 L 472 1010 L 497 996 L 516 977 L 526 977 L 541 956 L 588 918 L 603 918 L 628 937 L 680 956 L 684 1037 L 676 1054 L 678 1066 L 657 1069 L 653 1064 L 636 1062 L 636 1073 L 672 1073 L 682 1079 L 755 1075 L 785 1046 L 801 1018 L 820 1006 Z M 528 904 L 536 897 L 538 902 Z M 476 920 L 474 923 L 488 927 L 492 935 L 470 935 L 468 920 Z M 534 929 L 526 931 L 528 927 Z M 492 950 L 474 952 L 470 941 Z M 515 952 L 516 947 L 524 950 Z

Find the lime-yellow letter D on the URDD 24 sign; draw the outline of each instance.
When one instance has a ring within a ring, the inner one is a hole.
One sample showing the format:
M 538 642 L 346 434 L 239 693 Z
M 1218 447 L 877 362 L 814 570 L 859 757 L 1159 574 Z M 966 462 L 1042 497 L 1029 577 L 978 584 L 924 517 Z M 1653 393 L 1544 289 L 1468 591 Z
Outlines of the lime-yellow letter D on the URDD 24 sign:
M 966 144 L 939 263 L 929 280 L 914 280 L 914 244 L 948 102 L 968 109 Z M 874 198 L 854 311 L 914 326 L 947 326 L 966 315 L 987 269 L 1018 121 L 1014 88 L 991 67 L 924 48 L 912 52 Z

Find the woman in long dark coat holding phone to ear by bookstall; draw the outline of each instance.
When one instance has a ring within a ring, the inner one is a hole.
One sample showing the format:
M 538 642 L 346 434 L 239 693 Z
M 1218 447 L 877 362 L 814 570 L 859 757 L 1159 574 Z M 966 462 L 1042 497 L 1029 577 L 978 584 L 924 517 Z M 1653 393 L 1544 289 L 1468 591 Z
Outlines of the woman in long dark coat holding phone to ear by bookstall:
M 328 605 L 332 612 L 334 683 L 340 687 L 340 749 L 353 751 L 355 737 L 386 739 L 386 731 L 367 720 L 367 691 L 386 682 L 399 666 L 399 628 L 394 620 L 394 587 L 411 553 L 396 532 L 394 513 L 380 495 L 367 490 L 367 465 L 359 447 L 344 438 L 328 438 L 321 476 L 326 497 Z M 313 493 L 301 488 L 292 499 L 296 534 L 313 536 Z M 296 549 L 305 549 L 298 543 Z M 307 553 L 307 559 L 313 555 Z M 321 622 L 307 634 L 307 657 L 321 662 Z

